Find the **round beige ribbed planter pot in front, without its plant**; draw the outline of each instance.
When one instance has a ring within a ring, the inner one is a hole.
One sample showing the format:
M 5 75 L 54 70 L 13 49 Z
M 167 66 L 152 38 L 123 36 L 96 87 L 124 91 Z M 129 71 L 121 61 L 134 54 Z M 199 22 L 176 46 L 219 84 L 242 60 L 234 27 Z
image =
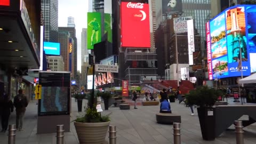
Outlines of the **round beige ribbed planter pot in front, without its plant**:
M 105 141 L 110 122 L 74 124 L 80 144 L 100 144 Z

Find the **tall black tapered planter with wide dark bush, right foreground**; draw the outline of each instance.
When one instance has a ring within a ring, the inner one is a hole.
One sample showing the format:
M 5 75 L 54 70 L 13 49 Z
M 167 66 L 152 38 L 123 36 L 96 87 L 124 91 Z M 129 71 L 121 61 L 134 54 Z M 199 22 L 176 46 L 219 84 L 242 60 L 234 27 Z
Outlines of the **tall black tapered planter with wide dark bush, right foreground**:
M 196 105 L 202 137 L 204 140 L 215 139 L 215 108 L 212 106 L 217 101 L 220 90 L 208 86 L 197 87 L 186 94 L 187 105 Z

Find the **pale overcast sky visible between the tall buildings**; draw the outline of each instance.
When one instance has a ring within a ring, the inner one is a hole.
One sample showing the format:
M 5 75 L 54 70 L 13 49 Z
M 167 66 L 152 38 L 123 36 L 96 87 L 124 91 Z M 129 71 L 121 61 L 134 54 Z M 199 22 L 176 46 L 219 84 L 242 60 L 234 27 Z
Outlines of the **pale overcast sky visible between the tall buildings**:
M 81 71 L 81 32 L 87 28 L 87 0 L 59 0 L 59 27 L 67 27 L 68 17 L 75 18 L 77 37 L 77 70 Z

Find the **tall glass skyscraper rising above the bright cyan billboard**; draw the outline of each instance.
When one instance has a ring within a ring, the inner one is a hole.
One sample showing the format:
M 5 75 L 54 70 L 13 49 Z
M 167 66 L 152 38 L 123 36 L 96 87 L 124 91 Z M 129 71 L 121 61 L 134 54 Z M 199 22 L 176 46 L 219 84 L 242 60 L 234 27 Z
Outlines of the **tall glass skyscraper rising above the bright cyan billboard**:
M 58 42 L 58 0 L 41 0 L 44 41 Z

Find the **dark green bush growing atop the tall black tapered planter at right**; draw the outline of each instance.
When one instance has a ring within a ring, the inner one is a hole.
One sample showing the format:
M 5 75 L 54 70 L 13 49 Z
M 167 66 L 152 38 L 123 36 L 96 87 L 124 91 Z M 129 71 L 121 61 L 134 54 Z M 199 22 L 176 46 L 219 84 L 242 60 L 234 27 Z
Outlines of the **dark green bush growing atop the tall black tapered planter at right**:
M 197 105 L 199 107 L 212 107 L 222 91 L 215 90 L 208 86 L 197 87 L 185 95 L 187 105 Z

